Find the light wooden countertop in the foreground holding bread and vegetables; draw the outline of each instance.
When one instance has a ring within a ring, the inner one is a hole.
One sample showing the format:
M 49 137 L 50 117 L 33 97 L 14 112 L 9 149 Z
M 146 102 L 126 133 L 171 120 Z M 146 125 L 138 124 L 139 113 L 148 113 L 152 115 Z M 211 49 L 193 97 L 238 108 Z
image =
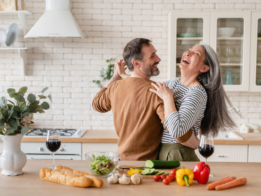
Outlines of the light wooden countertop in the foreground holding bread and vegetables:
M 197 162 L 180 162 L 181 166 L 193 169 Z M 200 195 L 200 196 L 220 196 L 220 195 L 260 195 L 260 163 L 250 162 L 211 162 L 209 163 L 211 173 L 214 177 L 209 178 L 208 183 L 212 183 L 225 176 L 246 177 L 247 183 L 243 186 L 234 187 L 225 190 L 207 190 L 206 184 L 197 184 L 193 181 L 190 187 L 180 186 L 176 182 L 165 185 L 162 182 L 156 182 L 152 179 L 144 179 L 139 185 L 120 185 L 108 184 L 107 177 L 101 177 L 103 187 L 101 188 L 79 188 L 63 184 L 53 183 L 42 180 L 39 172 L 42 167 L 50 167 L 52 160 L 27 160 L 23 168 L 24 174 L 18 176 L 0 175 L 1 195 L 114 195 L 114 196 L 133 196 L 135 195 Z M 89 172 L 85 161 L 75 160 L 55 160 L 55 165 L 64 165 L 72 169 L 83 172 Z M 119 165 L 144 165 L 144 161 L 119 161 Z M 1 171 L 1 169 L 0 169 Z M 115 172 L 117 172 L 115 170 Z M 195 194 L 196 193 L 196 194 Z

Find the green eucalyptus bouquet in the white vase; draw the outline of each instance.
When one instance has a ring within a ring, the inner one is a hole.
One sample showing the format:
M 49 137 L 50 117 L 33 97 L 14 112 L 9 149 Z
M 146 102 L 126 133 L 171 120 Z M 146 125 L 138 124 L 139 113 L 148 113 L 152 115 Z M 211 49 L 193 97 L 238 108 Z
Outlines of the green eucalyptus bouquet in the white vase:
M 21 87 L 18 92 L 14 88 L 8 88 L 7 93 L 10 98 L 14 98 L 14 102 L 6 97 L 0 99 L 0 134 L 2 135 L 17 135 L 28 133 L 28 124 L 33 124 L 33 113 L 45 113 L 44 109 L 49 109 L 50 105 L 44 101 L 40 104 L 41 99 L 47 97 L 52 101 L 52 95 L 47 97 L 43 93 L 48 89 L 42 89 L 41 95 L 38 95 L 39 100 L 36 100 L 36 95 L 30 93 L 27 96 L 27 101 L 24 96 L 27 92 L 27 87 Z

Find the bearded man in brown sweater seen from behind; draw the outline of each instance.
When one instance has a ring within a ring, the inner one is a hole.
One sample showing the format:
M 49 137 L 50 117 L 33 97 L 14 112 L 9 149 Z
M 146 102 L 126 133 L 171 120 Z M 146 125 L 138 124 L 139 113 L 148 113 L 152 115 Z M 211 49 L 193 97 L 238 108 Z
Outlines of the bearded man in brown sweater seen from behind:
M 92 107 L 98 112 L 113 110 L 114 126 L 119 136 L 118 153 L 121 160 L 157 159 L 163 135 L 164 104 L 155 93 L 150 77 L 159 74 L 161 61 L 150 40 L 136 38 L 123 50 L 123 59 L 131 72 L 121 80 L 114 70 L 113 77 L 96 94 Z M 120 66 L 121 61 L 115 66 Z M 155 83 L 155 82 L 154 82 Z

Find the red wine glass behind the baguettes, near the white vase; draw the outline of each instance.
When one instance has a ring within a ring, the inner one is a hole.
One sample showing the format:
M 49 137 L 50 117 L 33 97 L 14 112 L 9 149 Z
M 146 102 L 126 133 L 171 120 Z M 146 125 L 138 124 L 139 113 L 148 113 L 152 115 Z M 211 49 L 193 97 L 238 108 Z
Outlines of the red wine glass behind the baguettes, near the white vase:
M 59 130 L 48 130 L 47 138 L 46 138 L 46 147 L 49 151 L 53 153 L 53 165 L 49 167 L 50 169 L 55 169 L 54 166 L 54 152 L 57 151 L 61 146 L 61 138 L 59 135 Z

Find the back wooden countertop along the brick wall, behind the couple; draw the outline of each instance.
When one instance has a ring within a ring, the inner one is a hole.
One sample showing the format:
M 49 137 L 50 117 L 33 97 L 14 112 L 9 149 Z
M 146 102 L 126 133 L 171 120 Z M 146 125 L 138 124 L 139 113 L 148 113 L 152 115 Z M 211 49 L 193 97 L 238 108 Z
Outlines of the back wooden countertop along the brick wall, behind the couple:
M 240 133 L 243 140 L 214 140 L 214 144 L 261 145 L 261 133 Z M 118 143 L 115 130 L 87 130 L 81 138 L 61 138 L 61 142 Z M 22 142 L 45 142 L 46 137 L 24 137 Z

